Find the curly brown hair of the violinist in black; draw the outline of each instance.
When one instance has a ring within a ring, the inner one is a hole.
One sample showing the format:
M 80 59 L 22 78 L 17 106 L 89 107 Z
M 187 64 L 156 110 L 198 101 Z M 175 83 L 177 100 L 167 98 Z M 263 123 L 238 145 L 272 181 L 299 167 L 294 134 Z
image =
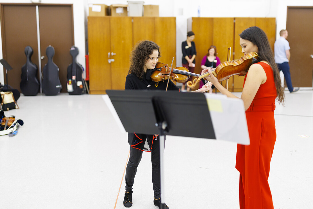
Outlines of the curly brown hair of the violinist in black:
M 153 41 L 145 40 L 137 44 L 134 50 L 131 52 L 131 65 L 129 66 L 128 75 L 134 73 L 142 80 L 146 61 L 149 60 L 149 55 L 151 55 L 155 50 L 159 51 L 160 58 L 160 47 Z

